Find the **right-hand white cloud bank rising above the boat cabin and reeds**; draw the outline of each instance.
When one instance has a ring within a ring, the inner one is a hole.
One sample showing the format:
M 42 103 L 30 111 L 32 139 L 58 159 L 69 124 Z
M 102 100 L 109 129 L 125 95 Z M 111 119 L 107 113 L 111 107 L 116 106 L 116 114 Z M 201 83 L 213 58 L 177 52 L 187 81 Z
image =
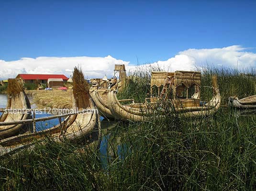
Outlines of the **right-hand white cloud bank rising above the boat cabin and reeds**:
M 169 72 L 176 70 L 197 70 L 200 67 L 224 66 L 238 69 L 255 68 L 256 53 L 247 52 L 251 48 L 240 45 L 213 49 L 188 49 L 179 52 L 167 61 L 157 61 L 152 64 L 129 66 L 131 71 L 142 68 L 160 68 Z

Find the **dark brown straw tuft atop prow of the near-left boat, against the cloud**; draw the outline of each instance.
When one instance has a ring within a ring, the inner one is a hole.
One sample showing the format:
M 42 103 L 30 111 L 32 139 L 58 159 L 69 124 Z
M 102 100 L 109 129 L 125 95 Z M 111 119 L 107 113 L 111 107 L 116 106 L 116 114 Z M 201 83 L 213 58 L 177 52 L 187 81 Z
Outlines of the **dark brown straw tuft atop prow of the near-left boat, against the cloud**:
M 85 80 L 81 68 L 74 68 L 72 80 L 76 107 L 78 109 L 87 108 L 89 106 L 89 84 Z

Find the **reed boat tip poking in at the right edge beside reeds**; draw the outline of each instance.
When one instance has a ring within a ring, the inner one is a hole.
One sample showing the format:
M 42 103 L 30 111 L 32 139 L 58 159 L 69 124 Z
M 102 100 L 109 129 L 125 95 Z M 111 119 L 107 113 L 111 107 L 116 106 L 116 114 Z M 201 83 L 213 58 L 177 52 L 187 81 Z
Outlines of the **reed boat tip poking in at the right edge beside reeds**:
M 239 109 L 256 108 L 256 95 L 238 99 L 237 96 L 229 97 L 229 105 Z

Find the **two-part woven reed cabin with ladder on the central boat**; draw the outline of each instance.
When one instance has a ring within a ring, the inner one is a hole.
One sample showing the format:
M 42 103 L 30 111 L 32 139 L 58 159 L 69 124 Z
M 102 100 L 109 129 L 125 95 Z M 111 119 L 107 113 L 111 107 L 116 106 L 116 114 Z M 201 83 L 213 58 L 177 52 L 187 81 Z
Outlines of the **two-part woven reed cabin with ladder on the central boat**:
M 149 100 L 173 99 L 176 106 L 200 106 L 200 85 L 200 72 L 152 72 Z

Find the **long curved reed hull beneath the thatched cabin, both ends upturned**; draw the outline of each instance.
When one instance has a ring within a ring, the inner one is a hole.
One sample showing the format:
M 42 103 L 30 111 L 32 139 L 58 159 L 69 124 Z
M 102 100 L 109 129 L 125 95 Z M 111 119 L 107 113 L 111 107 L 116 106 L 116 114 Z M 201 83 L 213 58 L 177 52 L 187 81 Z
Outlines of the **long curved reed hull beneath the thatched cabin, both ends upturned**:
M 140 108 L 134 108 L 134 104 L 122 105 L 116 96 L 116 90 L 111 89 L 108 94 L 108 102 L 112 115 L 116 119 L 121 120 L 131 120 L 131 121 L 148 121 L 155 117 L 164 117 L 169 112 L 175 112 L 181 114 L 183 117 L 201 117 L 213 114 L 219 107 L 221 103 L 221 96 L 219 88 L 217 85 L 217 77 L 212 78 L 213 94 L 211 101 L 204 106 L 190 106 L 190 107 L 176 107 L 176 100 L 168 100 L 168 102 L 159 102 L 147 104 L 142 104 L 143 111 Z M 152 108 L 148 109 L 151 106 Z M 158 108 L 158 109 L 156 109 Z

